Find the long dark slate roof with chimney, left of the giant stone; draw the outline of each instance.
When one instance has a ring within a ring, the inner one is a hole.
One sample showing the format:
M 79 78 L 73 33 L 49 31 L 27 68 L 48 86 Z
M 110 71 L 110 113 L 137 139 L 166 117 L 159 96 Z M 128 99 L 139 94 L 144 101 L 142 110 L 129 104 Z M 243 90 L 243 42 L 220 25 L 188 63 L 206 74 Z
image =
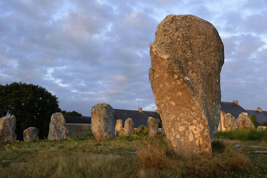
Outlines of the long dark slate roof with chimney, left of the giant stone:
M 123 120 L 123 127 L 124 121 L 127 118 L 131 118 L 134 122 L 134 127 L 139 127 L 141 125 L 147 126 L 147 118 L 148 116 L 159 119 L 159 114 L 153 111 L 138 111 L 138 110 L 124 110 L 124 109 L 114 109 L 117 115 L 117 119 Z M 158 128 L 161 128 L 161 124 L 159 123 Z

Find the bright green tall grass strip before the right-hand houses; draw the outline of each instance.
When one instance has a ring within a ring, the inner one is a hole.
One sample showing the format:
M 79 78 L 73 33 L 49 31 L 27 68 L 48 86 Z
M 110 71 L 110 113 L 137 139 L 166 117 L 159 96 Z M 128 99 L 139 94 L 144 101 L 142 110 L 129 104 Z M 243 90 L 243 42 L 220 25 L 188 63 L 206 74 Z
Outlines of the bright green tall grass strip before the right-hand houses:
M 228 131 L 218 131 L 216 134 L 217 137 L 227 138 L 227 139 L 236 139 L 236 140 L 261 140 L 267 136 L 267 129 L 265 130 L 228 130 Z

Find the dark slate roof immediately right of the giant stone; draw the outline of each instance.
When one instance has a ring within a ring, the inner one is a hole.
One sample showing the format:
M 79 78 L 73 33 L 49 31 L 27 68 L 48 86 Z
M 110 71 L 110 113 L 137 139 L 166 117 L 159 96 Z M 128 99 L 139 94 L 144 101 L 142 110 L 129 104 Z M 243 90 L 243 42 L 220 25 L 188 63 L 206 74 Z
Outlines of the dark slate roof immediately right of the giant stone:
M 241 113 L 247 113 L 244 108 L 234 102 L 221 102 L 221 110 L 225 113 L 230 113 L 235 118 L 238 118 Z

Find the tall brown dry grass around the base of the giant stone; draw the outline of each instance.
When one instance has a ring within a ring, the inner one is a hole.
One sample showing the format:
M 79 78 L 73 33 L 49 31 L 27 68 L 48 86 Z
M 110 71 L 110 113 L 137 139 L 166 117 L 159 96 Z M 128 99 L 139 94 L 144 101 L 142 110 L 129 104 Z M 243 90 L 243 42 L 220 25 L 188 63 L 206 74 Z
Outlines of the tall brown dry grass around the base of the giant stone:
M 217 149 L 213 158 L 178 158 L 166 137 L 156 136 L 144 139 L 143 144 L 137 146 L 137 155 L 144 169 L 170 169 L 176 177 L 223 177 L 249 170 L 251 161 L 244 154 L 218 140 L 213 148 Z

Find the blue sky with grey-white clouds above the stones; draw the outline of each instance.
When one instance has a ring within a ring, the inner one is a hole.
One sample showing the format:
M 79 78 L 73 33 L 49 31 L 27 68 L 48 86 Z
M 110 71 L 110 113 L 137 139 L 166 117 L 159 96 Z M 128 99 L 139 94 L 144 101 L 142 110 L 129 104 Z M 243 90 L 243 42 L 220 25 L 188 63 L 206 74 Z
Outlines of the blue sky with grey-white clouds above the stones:
M 155 110 L 149 44 L 166 15 L 209 21 L 224 44 L 222 101 L 267 110 L 266 0 L 2 0 L 0 84 L 38 84 L 62 110 Z

